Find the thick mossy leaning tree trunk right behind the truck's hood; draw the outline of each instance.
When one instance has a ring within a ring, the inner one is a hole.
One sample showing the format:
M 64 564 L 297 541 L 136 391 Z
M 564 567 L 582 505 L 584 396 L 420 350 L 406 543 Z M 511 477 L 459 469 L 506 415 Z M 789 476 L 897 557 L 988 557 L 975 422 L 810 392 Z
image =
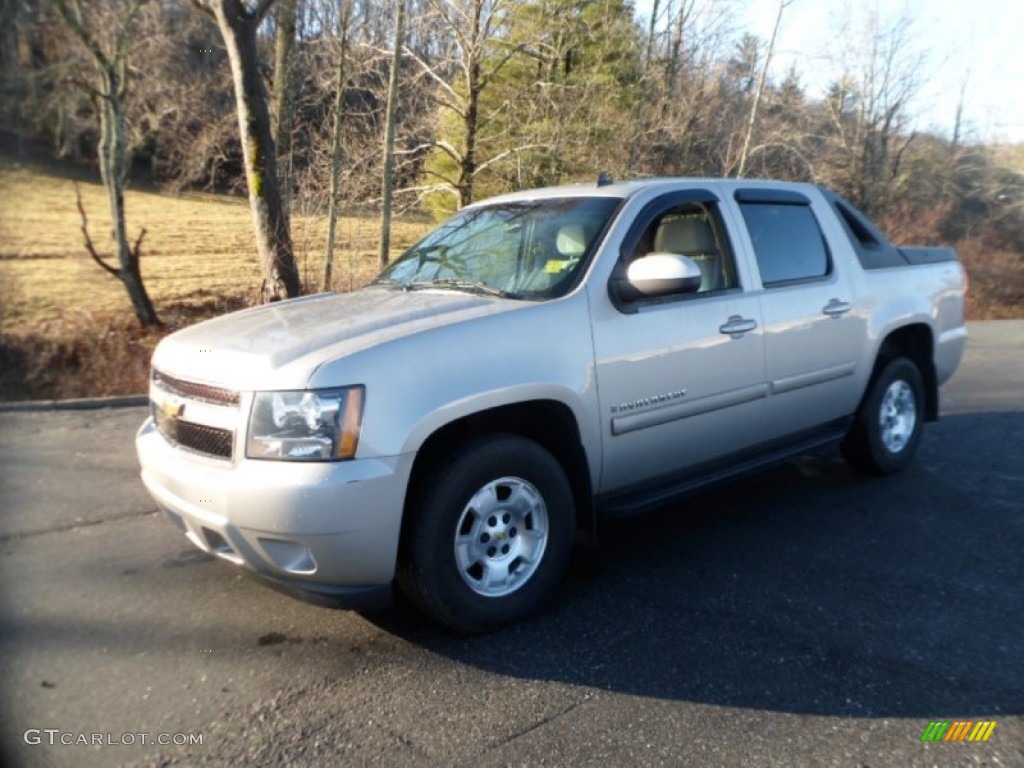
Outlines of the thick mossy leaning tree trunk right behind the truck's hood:
M 239 133 L 249 187 L 249 207 L 256 249 L 263 264 L 260 301 L 292 298 L 300 293 L 288 213 L 278 184 L 276 150 L 270 110 L 259 71 L 256 30 L 260 17 L 241 0 L 217 0 L 214 16 L 224 39 L 234 82 Z

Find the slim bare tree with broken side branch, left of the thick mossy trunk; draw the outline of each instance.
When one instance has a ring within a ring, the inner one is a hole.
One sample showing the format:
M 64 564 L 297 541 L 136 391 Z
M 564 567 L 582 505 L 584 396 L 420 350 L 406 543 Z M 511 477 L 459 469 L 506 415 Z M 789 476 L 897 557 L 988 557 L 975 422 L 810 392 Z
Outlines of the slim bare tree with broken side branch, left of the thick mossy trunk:
M 93 248 L 86 227 L 85 210 L 79 199 L 86 249 L 100 266 L 124 285 L 138 322 L 144 327 L 157 326 L 160 321 L 146 293 L 139 269 L 139 254 L 145 230 L 139 234 L 134 247 L 128 243 L 124 203 L 125 181 L 129 168 L 128 153 L 125 148 L 124 108 L 128 89 L 127 58 L 135 23 L 145 0 L 130 0 L 110 8 L 111 16 L 103 19 L 103 26 L 113 24 L 114 32 L 113 40 L 106 45 L 101 42 L 97 33 L 97 26 L 94 24 L 97 19 L 86 14 L 82 0 L 72 2 L 53 0 L 53 2 L 65 26 L 89 52 L 98 80 L 98 87 L 82 80 L 78 80 L 77 83 L 89 93 L 99 113 L 99 175 L 103 186 L 106 187 L 113 221 L 112 237 L 119 266 L 110 266 Z M 93 12 L 95 12 L 94 6 Z

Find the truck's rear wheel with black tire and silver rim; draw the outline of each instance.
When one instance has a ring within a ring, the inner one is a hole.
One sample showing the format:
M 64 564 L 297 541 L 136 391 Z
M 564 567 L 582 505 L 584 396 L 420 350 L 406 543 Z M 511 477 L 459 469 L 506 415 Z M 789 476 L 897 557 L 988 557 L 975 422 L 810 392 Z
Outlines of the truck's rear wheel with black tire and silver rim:
M 925 423 L 925 383 L 907 357 L 886 362 L 843 441 L 843 456 L 868 474 L 889 475 L 909 466 Z

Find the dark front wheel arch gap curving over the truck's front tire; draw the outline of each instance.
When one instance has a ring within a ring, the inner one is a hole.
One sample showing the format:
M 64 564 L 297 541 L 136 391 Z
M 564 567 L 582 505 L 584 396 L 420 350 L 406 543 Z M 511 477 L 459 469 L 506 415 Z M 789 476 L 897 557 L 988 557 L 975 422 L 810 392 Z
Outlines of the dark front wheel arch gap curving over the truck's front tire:
M 554 399 L 535 399 L 484 409 L 457 418 L 431 432 L 417 451 L 406 493 L 401 536 L 404 539 L 413 502 L 430 472 L 454 447 L 486 434 L 515 434 L 542 445 L 561 464 L 572 490 L 577 539 L 593 543 L 596 532 L 590 466 L 572 410 Z

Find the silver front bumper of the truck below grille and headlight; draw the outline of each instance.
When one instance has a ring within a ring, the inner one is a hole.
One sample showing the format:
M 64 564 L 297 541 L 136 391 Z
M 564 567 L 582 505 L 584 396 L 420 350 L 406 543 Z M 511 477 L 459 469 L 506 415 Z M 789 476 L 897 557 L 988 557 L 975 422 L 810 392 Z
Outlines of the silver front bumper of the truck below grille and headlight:
M 372 607 L 390 595 L 414 455 L 347 462 L 208 459 L 147 419 L 142 482 L 204 552 L 315 602 Z

